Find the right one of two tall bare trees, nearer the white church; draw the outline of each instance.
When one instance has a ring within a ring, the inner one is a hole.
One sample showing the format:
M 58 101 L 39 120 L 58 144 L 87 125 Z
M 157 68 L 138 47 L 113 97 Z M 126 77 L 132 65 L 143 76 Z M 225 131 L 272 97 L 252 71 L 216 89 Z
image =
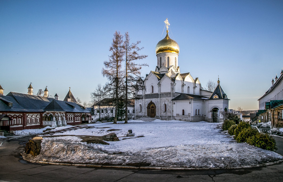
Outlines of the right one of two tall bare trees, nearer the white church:
M 129 33 L 125 33 L 125 40 L 123 42 L 123 47 L 125 51 L 125 123 L 128 122 L 128 99 L 134 98 L 134 93 L 136 90 L 141 89 L 141 84 L 136 84 L 140 80 L 141 68 L 143 66 L 148 66 L 145 63 L 136 63 L 136 60 L 141 60 L 146 58 L 147 55 L 140 55 L 138 51 L 142 50 L 143 47 L 138 47 L 141 41 L 136 41 L 135 43 L 130 42 Z

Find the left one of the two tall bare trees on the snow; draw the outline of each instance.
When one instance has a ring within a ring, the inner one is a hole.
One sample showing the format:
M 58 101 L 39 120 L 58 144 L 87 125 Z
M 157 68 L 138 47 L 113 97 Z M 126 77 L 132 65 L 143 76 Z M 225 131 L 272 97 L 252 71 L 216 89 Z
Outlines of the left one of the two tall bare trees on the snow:
M 106 91 L 115 98 L 115 118 L 114 123 L 117 123 L 117 110 L 119 102 L 119 94 L 123 93 L 119 85 L 123 84 L 123 71 L 121 68 L 121 62 L 123 61 L 123 35 L 120 32 L 115 31 L 112 39 L 112 44 L 109 49 L 112 54 L 109 56 L 108 61 L 104 61 L 105 68 L 102 68 L 102 75 L 108 78 L 108 82 L 104 87 Z

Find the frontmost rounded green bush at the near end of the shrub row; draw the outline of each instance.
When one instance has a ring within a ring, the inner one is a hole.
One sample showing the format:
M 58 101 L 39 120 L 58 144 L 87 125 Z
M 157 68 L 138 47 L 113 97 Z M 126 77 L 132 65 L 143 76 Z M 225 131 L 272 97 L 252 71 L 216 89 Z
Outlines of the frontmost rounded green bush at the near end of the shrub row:
M 269 136 L 267 133 L 256 133 L 256 135 L 248 138 L 246 142 L 250 145 L 254 145 L 262 149 L 271 151 L 277 150 L 274 138 Z

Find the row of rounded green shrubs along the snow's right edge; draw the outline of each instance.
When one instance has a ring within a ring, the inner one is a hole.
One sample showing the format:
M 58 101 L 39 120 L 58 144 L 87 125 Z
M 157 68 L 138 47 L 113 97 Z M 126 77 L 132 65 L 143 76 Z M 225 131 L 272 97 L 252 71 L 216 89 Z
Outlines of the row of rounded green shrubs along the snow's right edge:
M 225 123 L 226 122 L 226 123 Z M 222 129 L 230 125 L 228 129 L 229 135 L 234 135 L 234 139 L 240 142 L 247 142 L 250 145 L 257 146 L 262 149 L 276 151 L 276 142 L 273 137 L 268 134 L 258 133 L 258 131 L 252 129 L 249 123 L 241 121 L 238 125 L 231 124 L 231 121 L 224 121 Z M 224 130 L 224 129 L 223 129 Z

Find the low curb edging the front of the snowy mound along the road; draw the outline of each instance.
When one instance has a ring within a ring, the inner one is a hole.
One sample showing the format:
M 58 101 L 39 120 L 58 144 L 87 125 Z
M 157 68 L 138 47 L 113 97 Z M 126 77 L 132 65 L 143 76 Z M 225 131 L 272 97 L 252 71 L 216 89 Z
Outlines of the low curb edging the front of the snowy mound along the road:
M 253 168 L 253 167 L 262 167 L 262 166 L 270 166 L 274 164 L 279 164 L 283 162 L 283 159 L 262 163 L 258 165 L 245 165 L 245 166 L 237 166 L 233 168 L 186 168 L 186 167 L 161 167 L 161 166 L 115 166 L 115 165 L 95 165 L 95 164 L 80 164 L 80 163 L 57 163 L 57 162 L 45 162 L 38 161 L 41 164 L 50 164 L 50 165 L 68 165 L 68 166 L 85 166 L 85 167 L 107 167 L 107 168 L 127 168 L 127 169 L 148 169 L 148 170 L 211 170 L 211 169 L 241 169 L 241 168 Z

